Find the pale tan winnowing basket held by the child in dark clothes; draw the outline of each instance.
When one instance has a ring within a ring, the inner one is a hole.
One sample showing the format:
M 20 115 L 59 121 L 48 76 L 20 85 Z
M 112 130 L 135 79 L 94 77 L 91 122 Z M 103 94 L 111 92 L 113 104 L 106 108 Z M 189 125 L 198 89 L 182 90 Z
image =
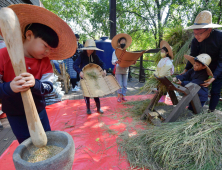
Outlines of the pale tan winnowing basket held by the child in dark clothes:
M 86 97 L 103 97 L 120 89 L 115 77 L 108 75 L 103 77 L 103 70 L 96 64 L 88 64 L 82 69 L 84 79 L 80 80 L 83 95 Z M 97 78 L 89 76 L 95 74 Z

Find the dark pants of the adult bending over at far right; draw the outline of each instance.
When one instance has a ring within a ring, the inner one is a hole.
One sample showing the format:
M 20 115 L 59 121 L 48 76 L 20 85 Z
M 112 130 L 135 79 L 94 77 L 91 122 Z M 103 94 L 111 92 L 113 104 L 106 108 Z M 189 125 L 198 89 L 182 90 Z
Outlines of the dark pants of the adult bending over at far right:
M 211 98 L 210 98 L 210 110 L 215 110 L 219 99 L 220 99 L 220 92 L 222 87 L 222 77 L 218 77 L 216 80 L 213 81 L 212 87 L 211 87 Z

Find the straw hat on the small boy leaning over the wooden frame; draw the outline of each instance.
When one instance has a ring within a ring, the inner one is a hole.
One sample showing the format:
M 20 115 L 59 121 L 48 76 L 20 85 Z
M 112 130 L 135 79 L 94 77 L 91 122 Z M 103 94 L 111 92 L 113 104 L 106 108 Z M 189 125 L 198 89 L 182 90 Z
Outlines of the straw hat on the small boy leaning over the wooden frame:
M 194 64 L 194 61 L 199 61 L 201 62 L 203 65 L 205 65 L 207 68 L 207 73 L 209 76 L 212 76 L 213 77 L 213 73 L 212 71 L 210 70 L 210 68 L 208 67 L 211 63 L 211 57 L 208 55 L 208 54 L 200 54 L 198 55 L 197 57 L 192 57 L 190 55 L 184 55 L 184 57 L 189 60 L 189 62 L 191 64 Z

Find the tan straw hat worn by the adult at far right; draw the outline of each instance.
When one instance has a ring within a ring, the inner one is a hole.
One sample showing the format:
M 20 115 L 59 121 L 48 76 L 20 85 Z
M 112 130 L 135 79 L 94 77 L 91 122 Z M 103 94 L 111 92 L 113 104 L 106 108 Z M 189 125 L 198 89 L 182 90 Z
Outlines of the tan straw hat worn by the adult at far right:
M 222 25 L 212 24 L 211 12 L 204 10 L 197 15 L 194 24 L 185 29 L 219 28 L 219 27 L 222 27 Z

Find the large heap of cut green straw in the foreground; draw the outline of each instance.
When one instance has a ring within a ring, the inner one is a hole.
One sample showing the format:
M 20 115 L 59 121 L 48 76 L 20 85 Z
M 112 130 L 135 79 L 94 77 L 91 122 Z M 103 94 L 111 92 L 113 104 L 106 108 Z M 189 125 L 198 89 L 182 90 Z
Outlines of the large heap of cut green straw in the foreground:
M 119 149 L 132 166 L 150 169 L 222 169 L 222 122 L 205 113 L 183 122 L 122 134 Z

